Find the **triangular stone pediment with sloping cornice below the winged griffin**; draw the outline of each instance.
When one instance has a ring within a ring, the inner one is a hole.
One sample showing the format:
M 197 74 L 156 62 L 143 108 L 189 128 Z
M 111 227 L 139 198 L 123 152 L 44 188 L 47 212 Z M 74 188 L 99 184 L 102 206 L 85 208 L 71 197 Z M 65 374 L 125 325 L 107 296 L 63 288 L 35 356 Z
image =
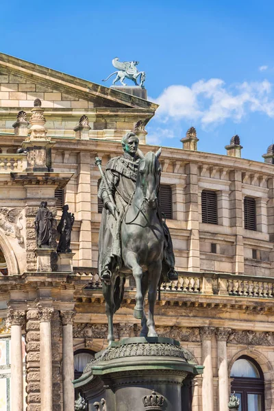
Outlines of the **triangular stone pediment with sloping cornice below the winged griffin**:
M 157 104 L 100 84 L 0 53 L 1 108 L 29 108 L 39 98 L 45 108 L 132 108 L 154 112 Z M 152 114 L 153 115 L 153 114 Z

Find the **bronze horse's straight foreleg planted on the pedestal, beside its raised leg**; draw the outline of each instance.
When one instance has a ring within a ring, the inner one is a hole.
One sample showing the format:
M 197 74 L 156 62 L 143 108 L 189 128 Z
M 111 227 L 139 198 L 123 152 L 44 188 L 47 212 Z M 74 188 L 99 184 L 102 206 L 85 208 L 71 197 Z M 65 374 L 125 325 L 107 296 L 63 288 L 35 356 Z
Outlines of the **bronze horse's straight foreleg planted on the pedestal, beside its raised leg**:
M 154 322 L 154 306 L 157 299 L 157 286 L 159 283 L 160 275 L 162 271 L 162 261 L 158 260 L 153 262 L 151 266 L 149 266 L 149 315 L 147 319 L 147 327 L 149 328 L 149 332 L 147 334 L 148 337 L 157 337 L 158 334 L 155 331 L 155 322 Z

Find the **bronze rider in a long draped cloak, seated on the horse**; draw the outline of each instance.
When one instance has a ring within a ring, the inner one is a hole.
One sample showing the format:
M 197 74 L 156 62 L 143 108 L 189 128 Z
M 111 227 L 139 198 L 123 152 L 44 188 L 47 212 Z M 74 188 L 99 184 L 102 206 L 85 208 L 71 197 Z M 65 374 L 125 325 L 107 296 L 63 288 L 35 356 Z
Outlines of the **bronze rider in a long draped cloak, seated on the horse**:
M 103 179 L 99 186 L 98 197 L 103 201 L 103 214 L 99 232 L 99 275 L 105 282 L 110 281 L 112 273 L 121 263 L 119 236 L 121 220 L 125 209 L 134 195 L 136 188 L 136 173 L 140 162 L 139 139 L 134 132 L 127 133 L 122 139 L 123 155 L 112 158 L 105 168 L 105 187 Z M 110 192 L 108 190 L 110 189 Z M 110 196 L 114 203 L 110 201 Z M 119 216 L 119 219 L 117 217 Z M 117 223 L 115 221 L 117 220 Z M 162 221 L 164 229 L 164 260 L 162 276 L 165 280 L 178 278 L 174 270 L 175 257 L 169 228 Z

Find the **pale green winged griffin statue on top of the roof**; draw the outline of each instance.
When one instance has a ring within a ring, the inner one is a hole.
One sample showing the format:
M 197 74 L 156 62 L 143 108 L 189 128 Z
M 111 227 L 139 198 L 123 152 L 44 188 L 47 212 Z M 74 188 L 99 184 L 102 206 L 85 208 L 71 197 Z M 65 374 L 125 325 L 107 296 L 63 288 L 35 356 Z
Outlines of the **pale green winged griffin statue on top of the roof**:
M 121 82 L 123 86 L 127 86 L 124 83 L 124 79 L 127 78 L 134 82 L 135 86 L 141 86 L 141 88 L 145 87 L 145 71 L 138 71 L 137 67 L 139 62 L 119 62 L 119 58 L 116 57 L 112 60 L 112 65 L 118 71 L 114 71 L 114 73 L 110 74 L 106 79 L 103 79 L 102 82 L 106 82 L 112 75 L 116 74 L 115 79 L 112 82 L 112 86 L 116 84 L 116 82 Z M 140 84 L 137 83 L 137 79 L 140 77 Z

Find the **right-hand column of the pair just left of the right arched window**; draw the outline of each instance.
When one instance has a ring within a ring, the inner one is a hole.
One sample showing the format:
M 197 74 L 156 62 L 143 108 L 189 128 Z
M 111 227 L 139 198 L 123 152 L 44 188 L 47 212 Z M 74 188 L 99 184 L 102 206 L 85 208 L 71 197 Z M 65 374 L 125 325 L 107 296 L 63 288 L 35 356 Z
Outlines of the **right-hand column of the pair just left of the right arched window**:
M 231 329 L 216 328 L 218 377 L 219 377 L 219 411 L 227 409 L 229 402 L 228 392 L 228 365 L 227 365 L 227 337 Z

